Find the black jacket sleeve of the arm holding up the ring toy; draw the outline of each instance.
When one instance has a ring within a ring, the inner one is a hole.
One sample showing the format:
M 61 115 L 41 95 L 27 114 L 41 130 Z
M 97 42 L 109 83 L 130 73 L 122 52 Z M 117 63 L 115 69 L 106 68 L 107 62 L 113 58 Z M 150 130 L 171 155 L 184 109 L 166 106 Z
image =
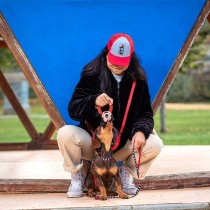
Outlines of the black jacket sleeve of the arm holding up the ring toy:
M 95 100 L 98 95 L 96 81 L 90 76 L 81 77 L 68 105 L 69 116 L 77 121 L 97 117 Z

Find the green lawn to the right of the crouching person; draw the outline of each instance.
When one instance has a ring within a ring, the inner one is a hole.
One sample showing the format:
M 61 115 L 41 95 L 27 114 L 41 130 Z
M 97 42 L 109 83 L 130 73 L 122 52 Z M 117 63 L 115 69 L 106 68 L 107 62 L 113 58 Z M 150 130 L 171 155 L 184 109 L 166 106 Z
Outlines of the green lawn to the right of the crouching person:
M 160 133 L 160 116 L 155 129 L 165 145 L 210 145 L 210 110 L 167 110 L 166 133 Z

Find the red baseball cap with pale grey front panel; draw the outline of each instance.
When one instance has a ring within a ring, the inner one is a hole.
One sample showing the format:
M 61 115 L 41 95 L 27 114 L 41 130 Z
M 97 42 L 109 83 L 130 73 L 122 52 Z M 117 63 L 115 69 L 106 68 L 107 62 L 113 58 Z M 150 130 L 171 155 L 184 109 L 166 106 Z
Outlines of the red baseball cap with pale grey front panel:
M 129 66 L 131 55 L 134 52 L 132 38 L 123 33 L 113 35 L 108 44 L 108 61 L 119 66 Z

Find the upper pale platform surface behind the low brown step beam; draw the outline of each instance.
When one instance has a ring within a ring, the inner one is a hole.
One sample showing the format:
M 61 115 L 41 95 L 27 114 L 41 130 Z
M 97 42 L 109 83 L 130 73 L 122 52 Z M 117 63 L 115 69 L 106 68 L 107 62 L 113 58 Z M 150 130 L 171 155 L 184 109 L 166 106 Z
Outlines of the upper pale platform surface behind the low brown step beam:
M 210 171 L 210 146 L 165 146 L 148 176 Z M 0 179 L 67 179 L 58 150 L 1 151 Z

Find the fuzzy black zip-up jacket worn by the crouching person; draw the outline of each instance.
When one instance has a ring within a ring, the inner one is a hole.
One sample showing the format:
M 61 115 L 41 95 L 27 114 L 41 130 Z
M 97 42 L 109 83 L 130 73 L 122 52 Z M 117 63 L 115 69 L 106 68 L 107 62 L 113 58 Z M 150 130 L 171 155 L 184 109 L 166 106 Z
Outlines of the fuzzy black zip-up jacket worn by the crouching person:
M 111 71 L 109 71 L 109 78 L 112 83 L 112 94 L 109 96 L 113 98 L 113 123 L 119 131 L 122 125 L 133 80 L 125 71 L 118 90 L 117 81 Z M 80 121 L 79 127 L 85 129 L 89 133 L 90 131 L 85 124 L 85 120 L 93 129 L 97 128 L 100 124 L 100 115 L 95 106 L 96 98 L 101 94 L 99 90 L 99 75 L 82 76 L 75 87 L 68 106 L 70 117 L 74 120 Z M 108 110 L 108 107 L 104 107 L 104 110 Z M 153 127 L 153 111 L 151 108 L 147 82 L 137 80 L 118 149 L 123 147 L 128 139 L 132 139 L 132 136 L 137 131 L 143 132 L 145 137 L 148 138 Z

